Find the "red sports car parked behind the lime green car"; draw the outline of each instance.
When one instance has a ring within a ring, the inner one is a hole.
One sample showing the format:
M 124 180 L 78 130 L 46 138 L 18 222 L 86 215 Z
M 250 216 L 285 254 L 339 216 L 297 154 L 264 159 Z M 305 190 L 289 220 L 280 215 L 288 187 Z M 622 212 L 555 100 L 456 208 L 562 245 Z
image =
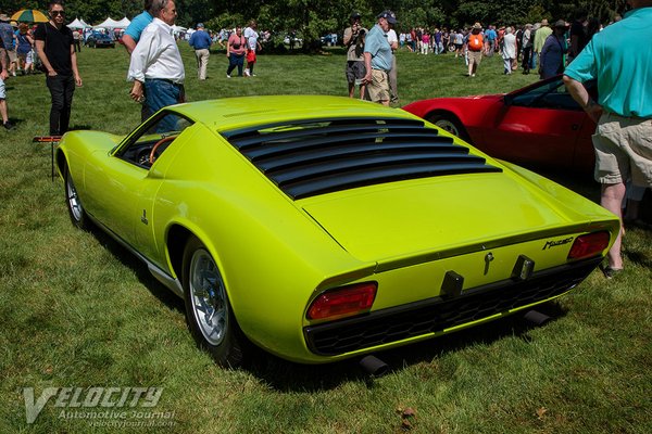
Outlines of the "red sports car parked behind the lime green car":
M 595 84 L 587 88 L 597 98 Z M 497 158 L 528 166 L 593 170 L 591 136 L 595 123 L 566 91 L 562 76 L 506 94 L 435 98 L 403 110 Z

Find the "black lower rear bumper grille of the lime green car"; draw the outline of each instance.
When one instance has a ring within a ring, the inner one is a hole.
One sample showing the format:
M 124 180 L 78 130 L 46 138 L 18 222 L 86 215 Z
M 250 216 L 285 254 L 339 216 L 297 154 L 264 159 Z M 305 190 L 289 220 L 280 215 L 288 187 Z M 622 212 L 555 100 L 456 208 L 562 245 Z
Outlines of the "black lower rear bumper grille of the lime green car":
M 580 283 L 602 257 L 507 279 L 464 291 L 456 297 L 432 297 L 303 329 L 311 352 L 337 356 L 469 324 L 554 298 Z

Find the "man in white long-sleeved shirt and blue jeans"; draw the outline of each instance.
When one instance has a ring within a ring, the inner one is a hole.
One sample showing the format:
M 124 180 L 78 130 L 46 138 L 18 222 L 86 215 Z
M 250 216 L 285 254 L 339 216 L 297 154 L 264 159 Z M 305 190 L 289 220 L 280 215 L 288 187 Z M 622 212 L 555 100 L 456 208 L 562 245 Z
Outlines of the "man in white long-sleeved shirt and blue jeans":
M 145 28 L 131 52 L 127 76 L 134 81 L 131 99 L 142 101 L 145 88 L 145 104 L 150 114 L 186 100 L 186 72 L 172 35 L 172 25 L 177 15 L 174 0 L 154 0 L 152 13 L 154 20 Z

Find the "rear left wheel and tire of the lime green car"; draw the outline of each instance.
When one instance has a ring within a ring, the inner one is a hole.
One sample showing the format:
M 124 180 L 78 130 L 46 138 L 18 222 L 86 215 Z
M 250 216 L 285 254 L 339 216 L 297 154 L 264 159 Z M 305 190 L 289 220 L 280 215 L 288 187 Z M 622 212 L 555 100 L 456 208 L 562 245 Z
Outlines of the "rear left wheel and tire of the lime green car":
M 247 339 L 238 327 L 215 260 L 195 237 L 186 244 L 183 267 L 190 334 L 217 365 L 237 368 L 244 359 Z

